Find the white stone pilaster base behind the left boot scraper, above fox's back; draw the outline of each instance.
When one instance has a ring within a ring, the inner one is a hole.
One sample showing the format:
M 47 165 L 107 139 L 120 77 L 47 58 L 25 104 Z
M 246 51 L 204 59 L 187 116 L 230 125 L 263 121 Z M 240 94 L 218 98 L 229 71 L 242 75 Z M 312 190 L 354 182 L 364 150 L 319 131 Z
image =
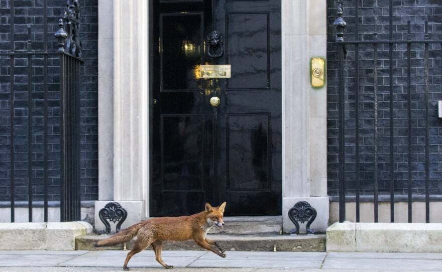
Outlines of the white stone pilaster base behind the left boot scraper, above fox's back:
M 105 229 L 103 222 L 101 222 L 98 212 L 104 208 L 104 206 L 113 201 L 96 201 L 95 202 L 95 230 L 100 231 Z M 126 209 L 128 217 L 124 221 L 121 229 L 132 226 L 135 223 L 140 222 L 145 218 L 145 204 L 144 201 L 115 201 Z M 115 233 L 118 222 L 111 222 L 111 231 Z

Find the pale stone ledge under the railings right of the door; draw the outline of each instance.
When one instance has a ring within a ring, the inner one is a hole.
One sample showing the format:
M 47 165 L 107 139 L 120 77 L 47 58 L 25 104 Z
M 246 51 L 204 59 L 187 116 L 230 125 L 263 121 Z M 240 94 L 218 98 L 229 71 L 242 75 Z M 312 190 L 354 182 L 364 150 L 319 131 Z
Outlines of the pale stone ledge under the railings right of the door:
M 335 223 L 326 250 L 341 252 L 442 252 L 440 223 Z

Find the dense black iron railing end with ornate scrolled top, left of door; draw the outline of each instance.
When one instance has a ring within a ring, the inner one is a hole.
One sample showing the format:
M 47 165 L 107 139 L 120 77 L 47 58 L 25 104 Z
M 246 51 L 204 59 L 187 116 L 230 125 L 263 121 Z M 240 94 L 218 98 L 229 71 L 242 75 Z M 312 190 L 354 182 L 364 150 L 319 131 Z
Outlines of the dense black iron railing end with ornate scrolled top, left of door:
M 78 28 L 79 6 L 70 0 L 64 19 L 68 33 L 64 30 L 63 20 L 55 34 L 60 52 L 60 221 L 79 221 L 80 218 L 80 83 L 78 59 L 80 47 Z M 75 13 L 75 14 L 73 14 Z M 78 13 L 78 14 L 77 14 Z M 72 19 L 75 19 L 73 21 Z

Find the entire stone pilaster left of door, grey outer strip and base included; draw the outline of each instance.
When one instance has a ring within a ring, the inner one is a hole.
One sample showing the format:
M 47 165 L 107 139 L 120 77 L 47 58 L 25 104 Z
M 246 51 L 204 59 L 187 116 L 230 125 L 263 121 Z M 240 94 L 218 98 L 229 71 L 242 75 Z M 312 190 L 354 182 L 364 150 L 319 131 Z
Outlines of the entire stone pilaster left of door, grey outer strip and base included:
M 103 95 L 98 102 L 102 107 L 99 200 L 103 201 L 96 202 L 95 213 L 109 200 L 120 202 L 136 215 L 126 220 L 125 225 L 130 225 L 148 216 L 148 2 L 100 3 L 99 25 L 106 29 L 99 36 L 103 52 L 98 60 L 103 61 L 99 70 Z M 101 224 L 97 217 L 95 223 Z

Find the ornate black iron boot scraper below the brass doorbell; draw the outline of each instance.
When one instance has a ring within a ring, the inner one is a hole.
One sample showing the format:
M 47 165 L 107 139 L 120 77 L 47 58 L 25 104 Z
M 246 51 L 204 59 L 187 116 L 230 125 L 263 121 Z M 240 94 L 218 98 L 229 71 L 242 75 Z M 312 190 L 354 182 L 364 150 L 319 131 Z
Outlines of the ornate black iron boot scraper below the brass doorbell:
M 299 223 L 297 221 L 300 221 L 301 223 L 307 221 L 305 226 L 307 233 L 314 234 L 316 232 L 314 229 L 310 228 L 311 223 L 316 218 L 316 209 L 313 208 L 308 202 L 297 202 L 288 211 L 288 218 L 293 222 L 293 224 L 295 224 L 296 227 L 290 231 L 290 234 L 299 234 Z

